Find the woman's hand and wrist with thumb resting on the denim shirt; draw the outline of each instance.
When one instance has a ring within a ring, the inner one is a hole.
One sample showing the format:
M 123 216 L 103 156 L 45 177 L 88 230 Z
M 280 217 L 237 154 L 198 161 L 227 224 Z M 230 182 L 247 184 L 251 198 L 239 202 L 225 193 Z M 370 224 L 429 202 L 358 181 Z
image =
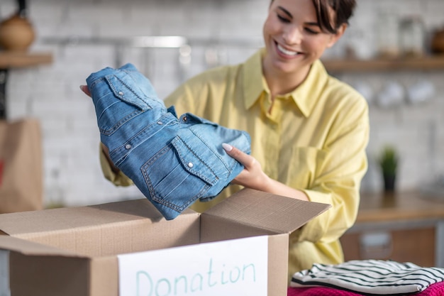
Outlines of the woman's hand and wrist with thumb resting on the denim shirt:
M 262 167 L 256 158 L 253 158 L 251 155 L 248 155 L 227 143 L 223 143 L 222 146 L 228 155 L 235 160 L 238 160 L 238 162 L 244 166 L 243 171 L 240 172 L 231 183 L 255 190 L 282 195 L 284 197 L 309 200 L 303 191 L 296 190 L 268 177 L 262 170 Z

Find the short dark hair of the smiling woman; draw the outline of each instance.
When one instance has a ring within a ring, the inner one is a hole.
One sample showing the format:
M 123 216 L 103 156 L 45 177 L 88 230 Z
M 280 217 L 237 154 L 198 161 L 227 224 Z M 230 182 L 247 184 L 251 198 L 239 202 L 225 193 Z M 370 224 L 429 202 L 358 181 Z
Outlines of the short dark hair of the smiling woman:
M 272 2 L 274 0 L 271 0 Z M 322 31 L 336 33 L 340 25 L 348 24 L 355 10 L 355 0 L 311 0 Z M 333 10 L 333 15 L 331 14 Z

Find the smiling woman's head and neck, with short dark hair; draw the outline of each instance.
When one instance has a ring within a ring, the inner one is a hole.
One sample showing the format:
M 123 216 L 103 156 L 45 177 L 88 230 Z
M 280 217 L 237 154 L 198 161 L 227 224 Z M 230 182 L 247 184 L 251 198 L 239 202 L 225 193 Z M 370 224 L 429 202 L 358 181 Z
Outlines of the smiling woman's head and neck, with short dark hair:
M 275 86 L 273 89 L 270 85 L 272 95 L 290 92 L 301 84 L 311 64 L 343 35 L 354 8 L 354 2 L 345 4 L 345 1 L 335 1 L 333 6 L 328 6 L 326 1 L 319 0 L 272 0 L 263 27 L 268 53 L 264 74 L 267 82 Z M 347 9 L 335 13 L 341 5 Z M 293 79 L 289 80 L 287 75 Z

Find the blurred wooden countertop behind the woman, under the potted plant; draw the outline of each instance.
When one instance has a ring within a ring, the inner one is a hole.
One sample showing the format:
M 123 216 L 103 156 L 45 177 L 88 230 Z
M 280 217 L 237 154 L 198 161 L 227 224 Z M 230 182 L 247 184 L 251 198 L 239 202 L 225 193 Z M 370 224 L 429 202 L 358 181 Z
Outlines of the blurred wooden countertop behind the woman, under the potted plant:
M 444 219 L 444 197 L 419 191 L 361 193 L 356 223 L 414 219 Z

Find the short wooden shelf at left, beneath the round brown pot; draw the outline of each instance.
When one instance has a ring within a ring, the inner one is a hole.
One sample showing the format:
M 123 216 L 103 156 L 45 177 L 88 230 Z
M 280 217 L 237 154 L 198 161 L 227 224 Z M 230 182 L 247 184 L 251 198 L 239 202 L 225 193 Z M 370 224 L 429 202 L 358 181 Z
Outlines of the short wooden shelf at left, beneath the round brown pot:
M 32 67 L 35 65 L 50 64 L 50 53 L 19 53 L 0 51 L 0 69 L 13 67 Z

